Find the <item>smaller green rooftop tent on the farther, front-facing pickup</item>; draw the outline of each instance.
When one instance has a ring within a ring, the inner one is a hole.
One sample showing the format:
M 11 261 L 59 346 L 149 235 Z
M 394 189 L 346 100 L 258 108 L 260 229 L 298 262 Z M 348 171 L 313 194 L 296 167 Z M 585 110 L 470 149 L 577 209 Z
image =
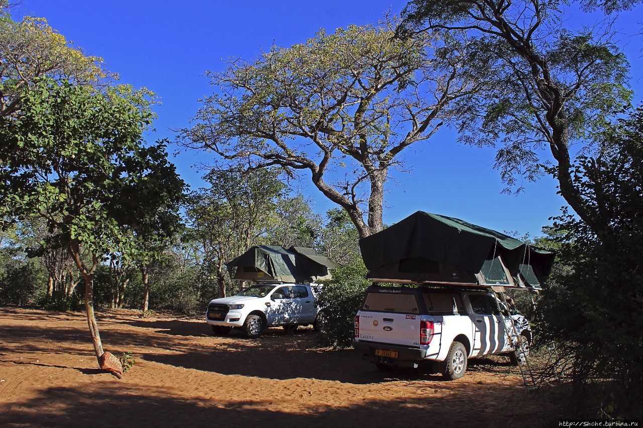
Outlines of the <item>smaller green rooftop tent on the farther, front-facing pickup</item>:
M 226 267 L 233 280 L 302 283 L 330 279 L 329 269 L 339 265 L 312 248 L 257 245 L 226 263 Z

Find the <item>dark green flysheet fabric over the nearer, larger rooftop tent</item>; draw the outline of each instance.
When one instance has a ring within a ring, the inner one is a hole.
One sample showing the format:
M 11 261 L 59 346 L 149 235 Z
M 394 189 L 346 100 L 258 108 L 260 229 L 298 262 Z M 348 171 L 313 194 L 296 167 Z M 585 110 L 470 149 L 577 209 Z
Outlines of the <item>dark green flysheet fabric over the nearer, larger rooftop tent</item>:
M 489 261 L 500 257 L 511 276 L 518 276 L 521 265 L 528 264 L 542 282 L 554 262 L 554 253 L 550 251 L 459 218 L 424 211 L 417 211 L 383 231 L 361 238 L 359 247 L 370 272 L 381 272 L 383 267 L 396 263 L 401 266 L 408 259 L 423 259 L 427 263 L 439 262 L 478 274 L 485 263 L 489 266 Z M 386 271 L 389 276 L 392 274 L 391 269 Z M 406 273 L 401 276 L 408 277 Z M 369 278 L 373 276 L 369 274 Z M 533 281 L 534 278 L 530 278 L 528 282 Z

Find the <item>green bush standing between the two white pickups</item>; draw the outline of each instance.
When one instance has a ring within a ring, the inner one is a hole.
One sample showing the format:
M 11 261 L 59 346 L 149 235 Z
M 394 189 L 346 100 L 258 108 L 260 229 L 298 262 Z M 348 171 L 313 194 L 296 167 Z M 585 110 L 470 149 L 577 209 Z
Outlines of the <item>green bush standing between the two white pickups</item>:
M 348 348 L 354 337 L 354 320 L 364 292 L 370 285 L 366 279 L 367 269 L 358 260 L 337 269 L 332 280 L 324 281 L 323 289 L 316 300 L 323 320 L 321 343 L 333 348 Z

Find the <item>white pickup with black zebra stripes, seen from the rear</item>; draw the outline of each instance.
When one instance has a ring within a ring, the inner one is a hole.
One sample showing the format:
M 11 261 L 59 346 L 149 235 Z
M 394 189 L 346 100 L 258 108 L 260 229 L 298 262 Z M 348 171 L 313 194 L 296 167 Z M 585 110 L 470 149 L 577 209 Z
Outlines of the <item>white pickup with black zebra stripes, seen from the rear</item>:
M 484 289 L 369 287 L 355 316 L 353 347 L 380 370 L 428 365 L 433 373 L 458 379 L 469 358 L 513 354 L 515 334 L 510 341 L 502 317 L 510 332 L 509 317 L 514 319 L 525 348 L 531 342 L 527 319 L 500 307 L 505 314 Z

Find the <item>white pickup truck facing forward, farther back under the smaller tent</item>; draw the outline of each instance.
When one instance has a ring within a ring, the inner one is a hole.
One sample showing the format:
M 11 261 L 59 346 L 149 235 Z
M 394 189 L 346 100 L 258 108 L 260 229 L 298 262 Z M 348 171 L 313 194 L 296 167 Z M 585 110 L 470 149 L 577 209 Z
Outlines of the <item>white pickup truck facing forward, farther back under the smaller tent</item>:
M 246 337 L 255 338 L 271 326 L 295 330 L 313 325 L 319 330 L 320 319 L 314 295 L 319 285 L 294 283 L 257 283 L 239 294 L 210 301 L 205 314 L 215 334 L 228 334 L 239 327 Z

